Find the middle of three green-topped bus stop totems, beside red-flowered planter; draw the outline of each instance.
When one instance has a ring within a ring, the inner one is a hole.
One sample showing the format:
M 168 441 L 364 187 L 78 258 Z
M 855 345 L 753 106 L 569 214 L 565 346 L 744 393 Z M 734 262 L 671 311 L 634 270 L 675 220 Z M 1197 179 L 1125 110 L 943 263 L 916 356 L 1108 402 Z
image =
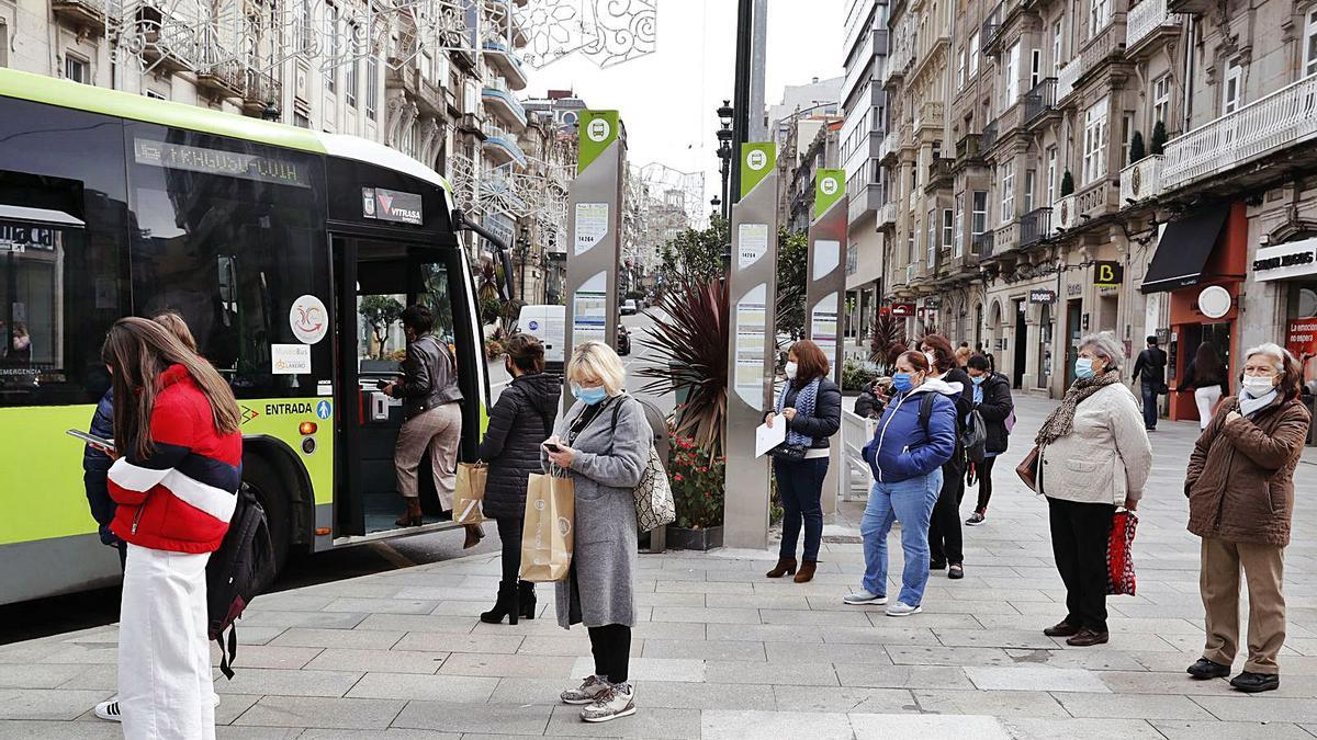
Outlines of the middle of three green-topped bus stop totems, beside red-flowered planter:
M 755 457 L 755 429 L 773 408 L 777 303 L 777 147 L 743 144 L 740 201 L 732 205 L 727 367 L 727 485 L 723 542 L 768 546 L 769 457 Z

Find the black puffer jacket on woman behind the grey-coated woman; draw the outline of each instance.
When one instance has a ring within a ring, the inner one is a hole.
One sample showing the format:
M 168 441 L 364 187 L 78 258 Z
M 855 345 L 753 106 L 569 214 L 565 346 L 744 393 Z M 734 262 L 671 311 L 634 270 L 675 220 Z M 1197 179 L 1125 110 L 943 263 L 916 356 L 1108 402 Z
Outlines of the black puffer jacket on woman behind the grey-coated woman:
M 522 519 L 525 515 L 525 483 L 540 471 L 540 444 L 553 433 L 553 419 L 562 398 L 557 375 L 520 375 L 498 396 L 490 411 L 475 457 L 489 463 L 485 482 L 485 515 Z

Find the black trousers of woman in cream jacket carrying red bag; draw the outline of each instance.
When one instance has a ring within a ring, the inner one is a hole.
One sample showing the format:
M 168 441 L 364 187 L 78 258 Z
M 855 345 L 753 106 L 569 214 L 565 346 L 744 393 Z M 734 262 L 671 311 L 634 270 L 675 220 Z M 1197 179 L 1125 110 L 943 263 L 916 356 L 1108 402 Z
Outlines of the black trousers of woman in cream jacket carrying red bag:
M 1115 504 L 1047 499 L 1052 556 L 1065 582 L 1065 623 L 1106 632 L 1106 546 Z

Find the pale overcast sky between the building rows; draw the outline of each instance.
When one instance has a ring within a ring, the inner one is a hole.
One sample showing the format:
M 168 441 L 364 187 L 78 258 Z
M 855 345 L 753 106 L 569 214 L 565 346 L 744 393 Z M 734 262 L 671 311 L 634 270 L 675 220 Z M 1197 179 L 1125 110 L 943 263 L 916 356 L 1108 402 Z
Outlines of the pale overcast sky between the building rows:
M 765 103 L 782 87 L 843 74 L 843 0 L 768 0 Z M 601 70 L 572 55 L 531 75 L 532 96 L 570 88 L 591 108 L 616 108 L 628 158 L 705 171 L 705 203 L 718 192 L 716 108 L 732 96 L 735 0 L 658 0 L 657 50 Z

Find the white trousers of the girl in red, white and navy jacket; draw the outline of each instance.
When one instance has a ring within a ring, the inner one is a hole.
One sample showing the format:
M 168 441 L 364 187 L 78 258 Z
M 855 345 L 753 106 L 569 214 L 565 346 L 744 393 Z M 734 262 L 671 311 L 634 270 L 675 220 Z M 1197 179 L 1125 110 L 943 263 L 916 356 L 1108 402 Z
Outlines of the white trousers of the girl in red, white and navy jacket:
M 119 704 L 128 740 L 215 739 L 205 554 L 128 545 Z

